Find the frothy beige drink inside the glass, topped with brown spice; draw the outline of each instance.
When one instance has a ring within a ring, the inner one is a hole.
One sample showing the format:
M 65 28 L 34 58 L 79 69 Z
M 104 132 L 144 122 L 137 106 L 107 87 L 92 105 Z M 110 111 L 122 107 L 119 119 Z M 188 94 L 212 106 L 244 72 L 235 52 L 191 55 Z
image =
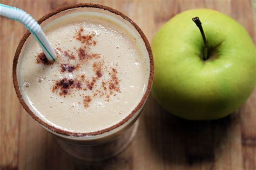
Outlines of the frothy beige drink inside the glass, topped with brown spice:
M 44 31 L 57 61 L 44 65 L 32 40 L 18 72 L 23 98 L 43 121 L 70 132 L 94 132 L 122 121 L 142 100 L 149 59 L 123 26 L 80 12 Z

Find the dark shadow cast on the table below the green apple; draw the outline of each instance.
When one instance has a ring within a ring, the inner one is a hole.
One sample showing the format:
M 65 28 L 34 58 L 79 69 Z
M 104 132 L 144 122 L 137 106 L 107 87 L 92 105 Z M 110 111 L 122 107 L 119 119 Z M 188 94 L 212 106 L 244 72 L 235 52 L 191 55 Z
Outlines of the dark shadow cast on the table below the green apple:
M 227 136 L 236 121 L 238 114 L 232 114 L 215 121 L 187 121 L 172 116 L 161 108 L 151 96 L 147 109 L 147 120 L 155 120 L 146 124 L 148 131 L 146 138 L 159 161 L 172 164 L 200 164 L 214 165 L 215 153 L 221 153 L 221 148 L 227 142 Z M 154 108 L 154 109 L 152 109 Z

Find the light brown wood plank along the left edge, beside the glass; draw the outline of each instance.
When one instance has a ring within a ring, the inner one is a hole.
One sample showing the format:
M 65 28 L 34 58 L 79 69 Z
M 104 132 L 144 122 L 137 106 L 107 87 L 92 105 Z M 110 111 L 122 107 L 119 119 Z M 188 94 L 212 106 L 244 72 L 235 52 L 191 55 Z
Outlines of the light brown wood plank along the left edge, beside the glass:
M 10 5 L 15 5 L 10 2 Z M 12 60 L 18 42 L 24 34 L 19 23 L 1 17 L 1 150 L 0 168 L 18 167 L 18 142 L 21 118 L 21 105 L 12 85 Z M 11 30 L 11 31 L 10 31 Z

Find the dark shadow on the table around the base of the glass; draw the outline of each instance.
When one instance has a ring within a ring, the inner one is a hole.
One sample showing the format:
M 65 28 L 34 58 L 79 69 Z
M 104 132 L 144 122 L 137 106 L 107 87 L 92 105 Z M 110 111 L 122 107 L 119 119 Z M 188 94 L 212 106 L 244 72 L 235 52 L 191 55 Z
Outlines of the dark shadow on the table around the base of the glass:
M 57 144 L 57 141 L 53 136 L 49 134 L 49 142 L 46 146 L 45 155 L 40 155 L 40 157 L 46 157 L 46 162 L 44 162 L 44 167 L 42 169 L 119 169 L 119 167 L 124 167 L 125 169 L 131 169 L 131 153 L 128 149 L 129 145 L 121 154 L 117 157 L 113 157 L 104 161 L 83 161 L 73 158 L 71 155 L 62 150 L 62 148 Z M 33 159 L 38 159 L 32 157 Z M 44 158 L 42 158 L 44 159 Z

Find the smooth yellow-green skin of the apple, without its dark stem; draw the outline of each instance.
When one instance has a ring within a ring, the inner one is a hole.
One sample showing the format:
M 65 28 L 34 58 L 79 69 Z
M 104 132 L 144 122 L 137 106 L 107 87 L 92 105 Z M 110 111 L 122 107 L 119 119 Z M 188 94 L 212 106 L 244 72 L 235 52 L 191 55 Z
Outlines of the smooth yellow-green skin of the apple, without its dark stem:
M 202 60 L 199 17 L 215 52 Z M 245 102 L 256 84 L 256 49 L 234 19 L 210 9 L 188 10 L 171 18 L 152 40 L 153 95 L 167 111 L 191 120 L 218 119 Z

